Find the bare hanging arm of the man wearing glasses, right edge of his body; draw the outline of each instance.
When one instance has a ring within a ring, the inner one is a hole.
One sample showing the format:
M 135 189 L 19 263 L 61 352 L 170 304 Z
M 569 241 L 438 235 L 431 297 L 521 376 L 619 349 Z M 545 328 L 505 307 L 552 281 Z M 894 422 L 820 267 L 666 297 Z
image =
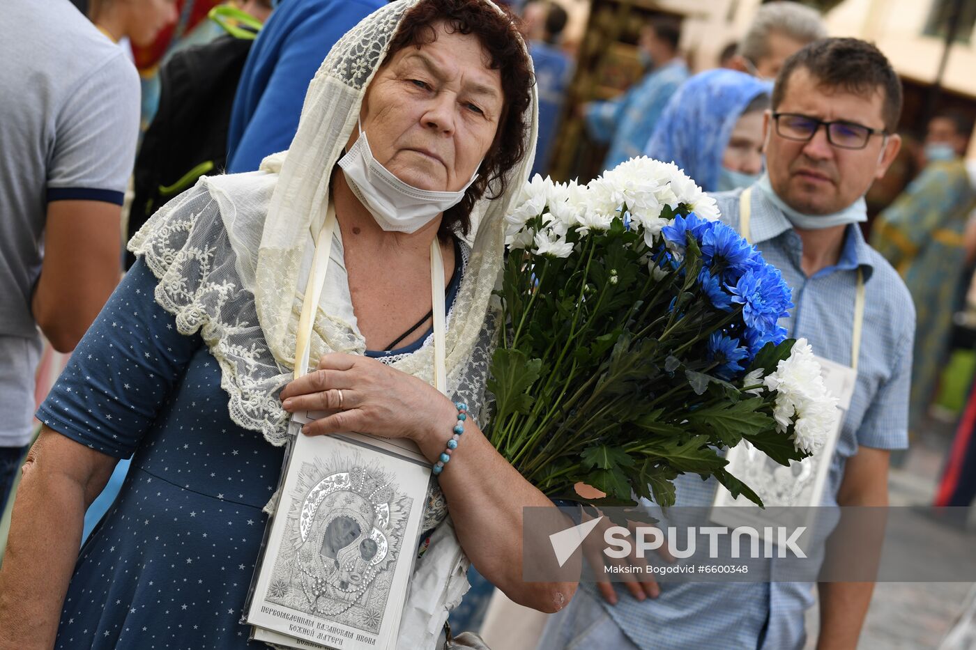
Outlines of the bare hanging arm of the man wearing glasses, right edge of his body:
M 840 506 L 888 505 L 888 460 L 885 449 L 859 447 L 847 461 L 837 494 Z M 830 546 L 831 542 L 828 542 Z M 820 650 L 857 647 L 861 627 L 871 604 L 874 583 L 819 583 Z

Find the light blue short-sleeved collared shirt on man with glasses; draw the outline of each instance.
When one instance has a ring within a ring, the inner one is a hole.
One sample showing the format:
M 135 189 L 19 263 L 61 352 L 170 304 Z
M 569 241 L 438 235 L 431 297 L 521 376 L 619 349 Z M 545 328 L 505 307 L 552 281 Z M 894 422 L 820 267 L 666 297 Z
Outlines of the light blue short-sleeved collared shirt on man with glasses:
M 715 194 L 722 221 L 739 226 L 741 190 Z M 908 446 L 909 384 L 915 308 L 898 273 L 847 226 L 840 260 L 812 277 L 800 266 L 802 245 L 792 224 L 755 187 L 752 242 L 793 289 L 793 310 L 782 324 L 805 337 L 815 354 L 851 365 L 857 269 L 864 271 L 866 304 L 857 385 L 837 440 L 824 505 L 836 504 L 847 459 L 859 446 Z M 709 506 L 717 482 L 696 474 L 677 479 L 677 506 Z M 776 560 L 770 560 L 775 580 Z M 639 602 L 624 589 L 606 611 L 642 650 L 683 648 L 802 648 L 804 611 L 813 604 L 812 583 L 687 583 L 665 585 L 661 596 Z

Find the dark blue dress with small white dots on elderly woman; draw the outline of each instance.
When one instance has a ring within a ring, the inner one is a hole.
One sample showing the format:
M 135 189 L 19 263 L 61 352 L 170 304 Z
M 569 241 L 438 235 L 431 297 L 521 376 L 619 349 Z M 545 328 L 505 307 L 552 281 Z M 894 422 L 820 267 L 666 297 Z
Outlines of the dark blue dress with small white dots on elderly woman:
M 133 455 L 81 549 L 55 647 L 267 648 L 240 620 L 284 451 L 230 420 L 217 361 L 177 332 L 156 282 L 133 266 L 37 414 L 102 453 Z

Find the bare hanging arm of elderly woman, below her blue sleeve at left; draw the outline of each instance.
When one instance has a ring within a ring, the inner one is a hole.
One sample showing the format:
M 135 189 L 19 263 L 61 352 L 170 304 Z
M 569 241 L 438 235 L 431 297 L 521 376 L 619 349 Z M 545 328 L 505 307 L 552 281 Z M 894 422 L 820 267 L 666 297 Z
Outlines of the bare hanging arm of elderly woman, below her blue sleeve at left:
M 0 648 L 51 648 L 85 508 L 116 459 L 44 427 L 27 454 L 0 565 Z

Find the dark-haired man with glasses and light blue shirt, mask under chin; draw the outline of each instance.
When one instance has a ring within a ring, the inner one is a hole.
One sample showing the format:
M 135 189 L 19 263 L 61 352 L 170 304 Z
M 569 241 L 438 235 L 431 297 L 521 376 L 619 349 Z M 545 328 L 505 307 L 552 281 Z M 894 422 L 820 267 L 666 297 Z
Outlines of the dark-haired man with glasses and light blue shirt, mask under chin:
M 780 324 L 837 367 L 856 369 L 824 506 L 886 506 L 889 453 L 908 444 L 915 309 L 858 227 L 867 220 L 865 193 L 901 145 L 894 133 L 901 104 L 901 82 L 873 45 L 811 43 L 777 78 L 764 124 L 767 173 L 745 190 L 715 195 L 722 219 L 792 287 L 795 306 Z M 693 474 L 675 483 L 674 516 L 712 505 L 718 488 Z M 768 562 L 775 581 L 783 565 Z M 818 648 L 855 648 L 873 583 L 818 587 Z M 550 618 L 539 650 L 802 648 L 813 601 L 810 583 L 581 584 Z

